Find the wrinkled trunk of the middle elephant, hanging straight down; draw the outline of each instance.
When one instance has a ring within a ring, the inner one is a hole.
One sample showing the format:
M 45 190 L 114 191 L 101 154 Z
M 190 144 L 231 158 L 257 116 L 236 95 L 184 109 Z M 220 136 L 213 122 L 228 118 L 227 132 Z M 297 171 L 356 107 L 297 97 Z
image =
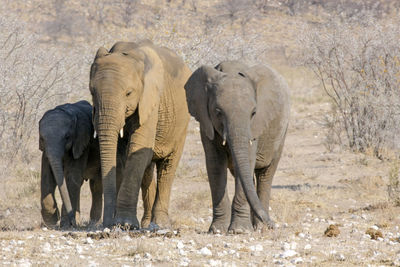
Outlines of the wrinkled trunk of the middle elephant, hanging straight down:
M 121 119 L 114 114 L 117 112 L 99 108 L 97 134 L 100 145 L 101 176 L 104 193 L 103 226 L 114 223 L 116 211 L 117 186 L 116 186 L 116 158 L 118 134 L 123 124 Z M 123 116 L 123 115 L 122 115 Z

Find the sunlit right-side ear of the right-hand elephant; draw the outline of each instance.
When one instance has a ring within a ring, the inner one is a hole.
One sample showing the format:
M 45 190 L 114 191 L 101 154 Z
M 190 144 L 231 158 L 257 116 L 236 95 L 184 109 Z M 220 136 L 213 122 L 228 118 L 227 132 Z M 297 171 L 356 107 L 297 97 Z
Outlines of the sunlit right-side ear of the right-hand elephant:
M 256 91 L 256 115 L 251 122 L 253 138 L 258 138 L 281 113 L 285 101 L 281 96 L 283 79 L 274 70 L 257 65 L 244 74 Z

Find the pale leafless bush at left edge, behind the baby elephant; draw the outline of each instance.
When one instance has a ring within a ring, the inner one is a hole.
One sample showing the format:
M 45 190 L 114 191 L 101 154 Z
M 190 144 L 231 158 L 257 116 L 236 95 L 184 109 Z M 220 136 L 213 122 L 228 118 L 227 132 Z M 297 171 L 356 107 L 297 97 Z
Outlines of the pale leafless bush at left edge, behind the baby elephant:
M 0 19 L 0 27 L 0 159 L 29 163 L 40 154 L 38 120 L 80 86 L 78 65 L 67 54 L 41 49 L 24 25 Z

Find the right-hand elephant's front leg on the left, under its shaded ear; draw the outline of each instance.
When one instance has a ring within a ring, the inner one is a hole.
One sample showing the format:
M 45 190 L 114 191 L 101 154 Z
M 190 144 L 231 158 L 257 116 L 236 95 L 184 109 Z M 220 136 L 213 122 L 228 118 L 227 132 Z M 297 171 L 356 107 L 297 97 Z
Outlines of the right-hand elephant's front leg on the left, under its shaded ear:
M 203 133 L 201 133 L 201 140 L 206 155 L 206 168 L 213 204 L 213 220 L 208 232 L 226 233 L 231 220 L 231 204 L 227 188 L 228 156 L 221 147 L 221 142 L 210 141 Z

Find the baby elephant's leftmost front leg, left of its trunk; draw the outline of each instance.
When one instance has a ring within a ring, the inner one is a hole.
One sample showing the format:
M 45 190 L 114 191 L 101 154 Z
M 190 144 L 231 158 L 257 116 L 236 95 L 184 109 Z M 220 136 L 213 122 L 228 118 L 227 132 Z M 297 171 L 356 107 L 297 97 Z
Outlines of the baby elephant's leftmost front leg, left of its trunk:
M 55 227 L 60 219 L 60 212 L 57 208 L 57 202 L 54 197 L 56 186 L 56 180 L 54 179 L 53 172 L 51 171 L 50 163 L 46 155 L 43 153 L 40 183 L 40 204 L 42 206 L 41 213 L 44 224 L 48 227 Z

